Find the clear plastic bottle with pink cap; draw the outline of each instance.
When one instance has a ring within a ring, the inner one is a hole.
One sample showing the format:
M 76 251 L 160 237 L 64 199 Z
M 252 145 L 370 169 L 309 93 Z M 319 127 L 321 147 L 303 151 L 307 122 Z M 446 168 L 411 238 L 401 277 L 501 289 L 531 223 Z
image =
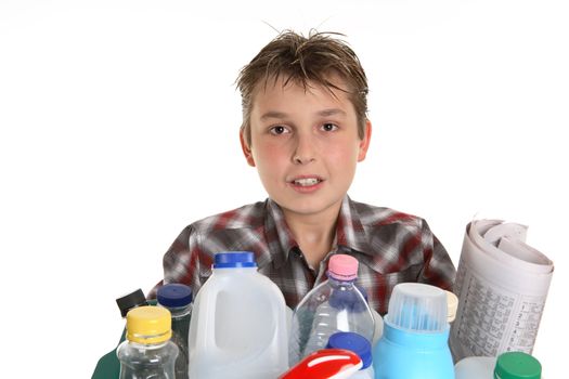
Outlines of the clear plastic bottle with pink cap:
M 358 260 L 346 254 L 332 256 L 327 276 L 328 279 L 308 292 L 295 309 L 288 345 L 290 366 L 324 349 L 337 331 L 353 331 L 373 341 L 374 316 L 354 286 Z

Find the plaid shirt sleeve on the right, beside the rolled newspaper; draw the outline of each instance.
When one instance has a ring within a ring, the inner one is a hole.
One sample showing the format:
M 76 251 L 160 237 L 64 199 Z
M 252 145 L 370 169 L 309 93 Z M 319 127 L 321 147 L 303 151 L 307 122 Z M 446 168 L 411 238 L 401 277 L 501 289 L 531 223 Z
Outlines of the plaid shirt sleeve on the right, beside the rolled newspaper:
M 456 269 L 425 220 L 422 220 L 422 248 L 425 263 L 417 282 L 452 291 Z

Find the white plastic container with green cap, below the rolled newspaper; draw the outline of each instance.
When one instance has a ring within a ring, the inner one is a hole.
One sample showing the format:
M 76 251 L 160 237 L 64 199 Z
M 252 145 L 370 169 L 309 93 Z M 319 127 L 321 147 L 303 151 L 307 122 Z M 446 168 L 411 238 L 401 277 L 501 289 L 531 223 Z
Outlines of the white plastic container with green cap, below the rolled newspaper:
M 541 379 L 541 364 L 522 352 L 497 356 L 469 356 L 455 366 L 456 379 Z

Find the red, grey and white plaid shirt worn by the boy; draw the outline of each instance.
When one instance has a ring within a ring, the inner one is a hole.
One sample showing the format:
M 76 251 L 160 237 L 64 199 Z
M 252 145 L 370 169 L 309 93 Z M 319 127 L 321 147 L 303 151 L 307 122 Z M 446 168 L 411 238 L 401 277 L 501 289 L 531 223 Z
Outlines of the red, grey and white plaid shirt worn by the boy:
M 294 309 L 326 279 L 335 253 L 360 262 L 358 284 L 379 314 L 387 312 L 398 283 L 427 283 L 451 289 L 455 269 L 425 220 L 389 208 L 373 207 L 345 197 L 332 251 L 319 267 L 310 267 L 295 241 L 281 208 L 271 199 L 216 214 L 186 226 L 164 257 L 165 283 L 183 283 L 194 295 L 211 275 L 214 256 L 221 251 L 253 251 L 258 270 L 283 291 Z

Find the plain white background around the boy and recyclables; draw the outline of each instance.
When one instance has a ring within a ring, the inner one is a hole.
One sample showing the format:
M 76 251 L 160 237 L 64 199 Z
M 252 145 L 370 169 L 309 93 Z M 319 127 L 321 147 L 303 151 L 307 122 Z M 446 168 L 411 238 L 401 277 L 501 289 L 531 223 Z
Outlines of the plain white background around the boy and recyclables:
M 161 278 L 178 233 L 266 197 L 233 81 L 270 24 L 344 32 L 366 69 L 352 198 L 426 218 L 455 264 L 473 218 L 530 226 L 556 264 L 534 355 L 560 378 L 568 19 L 548 0 L 0 0 L 2 371 L 90 377 L 115 298 Z

